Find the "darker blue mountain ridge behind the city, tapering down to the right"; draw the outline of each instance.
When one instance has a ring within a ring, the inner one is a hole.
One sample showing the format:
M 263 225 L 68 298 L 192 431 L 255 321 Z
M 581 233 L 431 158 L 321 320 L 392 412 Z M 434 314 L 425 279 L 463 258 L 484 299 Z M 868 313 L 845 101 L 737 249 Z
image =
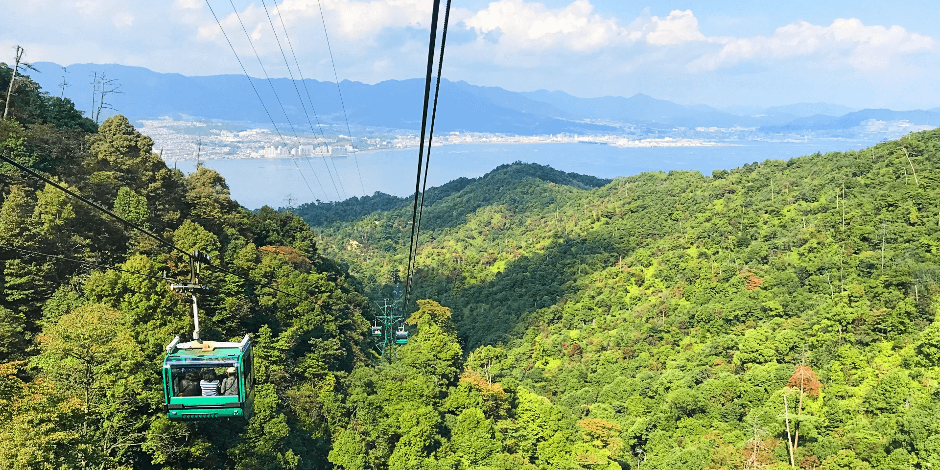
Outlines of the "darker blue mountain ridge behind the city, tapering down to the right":
M 33 64 L 39 72 L 32 78 L 43 89 L 59 94 L 61 66 L 52 62 Z M 106 102 L 129 118 L 194 117 L 266 123 L 278 126 L 290 122 L 298 131 L 317 125 L 312 108 L 321 123 L 334 124 L 344 132 L 343 106 L 352 124 L 361 126 L 418 129 L 424 80 L 387 80 L 375 85 L 344 80 L 337 84 L 307 79 L 295 84 L 286 78 L 252 78 L 243 75 L 185 76 L 160 73 L 142 67 L 117 64 L 73 64 L 68 68 L 65 95 L 79 109 L 92 105 L 92 73 L 104 72 L 117 79 L 122 94 L 110 95 Z M 298 91 L 303 104 L 298 99 Z M 309 100 L 307 100 L 309 93 Z M 264 101 L 262 106 L 258 95 Z M 283 110 L 280 104 L 283 104 Z M 307 122 L 305 108 L 311 122 Z M 112 113 L 113 114 L 113 113 Z M 269 114 L 270 117 L 269 118 Z M 529 100 L 502 88 L 471 86 L 442 80 L 435 130 L 440 132 L 487 133 L 599 133 L 616 128 L 575 122 L 544 102 Z M 282 130 L 284 132 L 286 130 Z

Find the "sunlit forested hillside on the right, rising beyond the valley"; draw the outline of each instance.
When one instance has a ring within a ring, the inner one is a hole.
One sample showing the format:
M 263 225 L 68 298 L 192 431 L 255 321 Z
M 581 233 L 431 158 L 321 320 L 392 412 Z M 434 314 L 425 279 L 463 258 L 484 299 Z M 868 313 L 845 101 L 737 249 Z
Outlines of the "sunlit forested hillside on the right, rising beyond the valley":
M 603 187 L 513 164 L 434 201 L 412 299 L 452 309 L 465 350 L 457 387 L 433 403 L 434 457 L 934 468 L 938 159 L 930 131 Z M 410 211 L 376 211 L 314 229 L 381 297 L 402 272 L 409 223 Z M 462 389 L 480 395 L 455 406 Z M 387 446 L 371 415 L 359 422 L 337 439 Z M 473 444 L 459 444 L 468 429 Z M 343 468 L 383 465 L 334 452 Z

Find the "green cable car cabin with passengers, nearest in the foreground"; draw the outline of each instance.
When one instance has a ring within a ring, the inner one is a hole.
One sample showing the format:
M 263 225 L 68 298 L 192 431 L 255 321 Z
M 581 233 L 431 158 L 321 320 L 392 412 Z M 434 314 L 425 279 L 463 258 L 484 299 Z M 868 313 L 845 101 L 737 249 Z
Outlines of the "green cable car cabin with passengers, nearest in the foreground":
M 172 421 L 247 418 L 255 400 L 251 339 L 190 341 L 166 346 L 164 413 Z M 216 380 L 212 380 L 212 378 Z

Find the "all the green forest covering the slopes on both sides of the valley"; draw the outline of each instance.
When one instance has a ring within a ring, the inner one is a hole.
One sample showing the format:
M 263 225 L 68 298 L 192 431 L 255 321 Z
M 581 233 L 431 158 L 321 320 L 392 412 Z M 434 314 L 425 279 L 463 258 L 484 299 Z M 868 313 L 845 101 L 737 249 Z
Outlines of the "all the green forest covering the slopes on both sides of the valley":
M 709 176 L 515 163 L 432 188 L 389 362 L 368 329 L 407 275 L 411 198 L 250 211 L 127 118 L 28 81 L 10 103 L 0 153 L 257 281 L 207 269 L 200 322 L 252 337 L 258 386 L 247 421 L 167 420 L 191 303 L 141 274 L 188 262 L 2 163 L 0 245 L 132 273 L 0 248 L 0 469 L 940 465 L 940 131 Z

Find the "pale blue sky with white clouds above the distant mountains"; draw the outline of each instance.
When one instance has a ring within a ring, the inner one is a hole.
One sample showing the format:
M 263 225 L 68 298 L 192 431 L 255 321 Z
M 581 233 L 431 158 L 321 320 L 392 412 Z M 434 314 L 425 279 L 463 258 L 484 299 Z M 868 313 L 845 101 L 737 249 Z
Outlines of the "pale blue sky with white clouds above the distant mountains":
M 280 28 L 272 1 L 266 5 Z M 231 6 L 210 2 L 248 71 L 259 76 Z M 326 80 L 333 71 L 317 4 L 277 5 L 305 76 Z M 423 74 L 431 0 L 321 5 L 340 79 L 376 83 Z M 719 108 L 940 106 L 936 1 L 454 0 L 453 6 L 444 75 L 475 85 L 581 97 L 641 92 Z M 260 0 L 235 7 L 268 71 L 287 76 Z M 3 9 L 0 53 L 10 56 L 22 44 L 32 61 L 113 62 L 187 75 L 241 71 L 205 0 L 3 0 Z

